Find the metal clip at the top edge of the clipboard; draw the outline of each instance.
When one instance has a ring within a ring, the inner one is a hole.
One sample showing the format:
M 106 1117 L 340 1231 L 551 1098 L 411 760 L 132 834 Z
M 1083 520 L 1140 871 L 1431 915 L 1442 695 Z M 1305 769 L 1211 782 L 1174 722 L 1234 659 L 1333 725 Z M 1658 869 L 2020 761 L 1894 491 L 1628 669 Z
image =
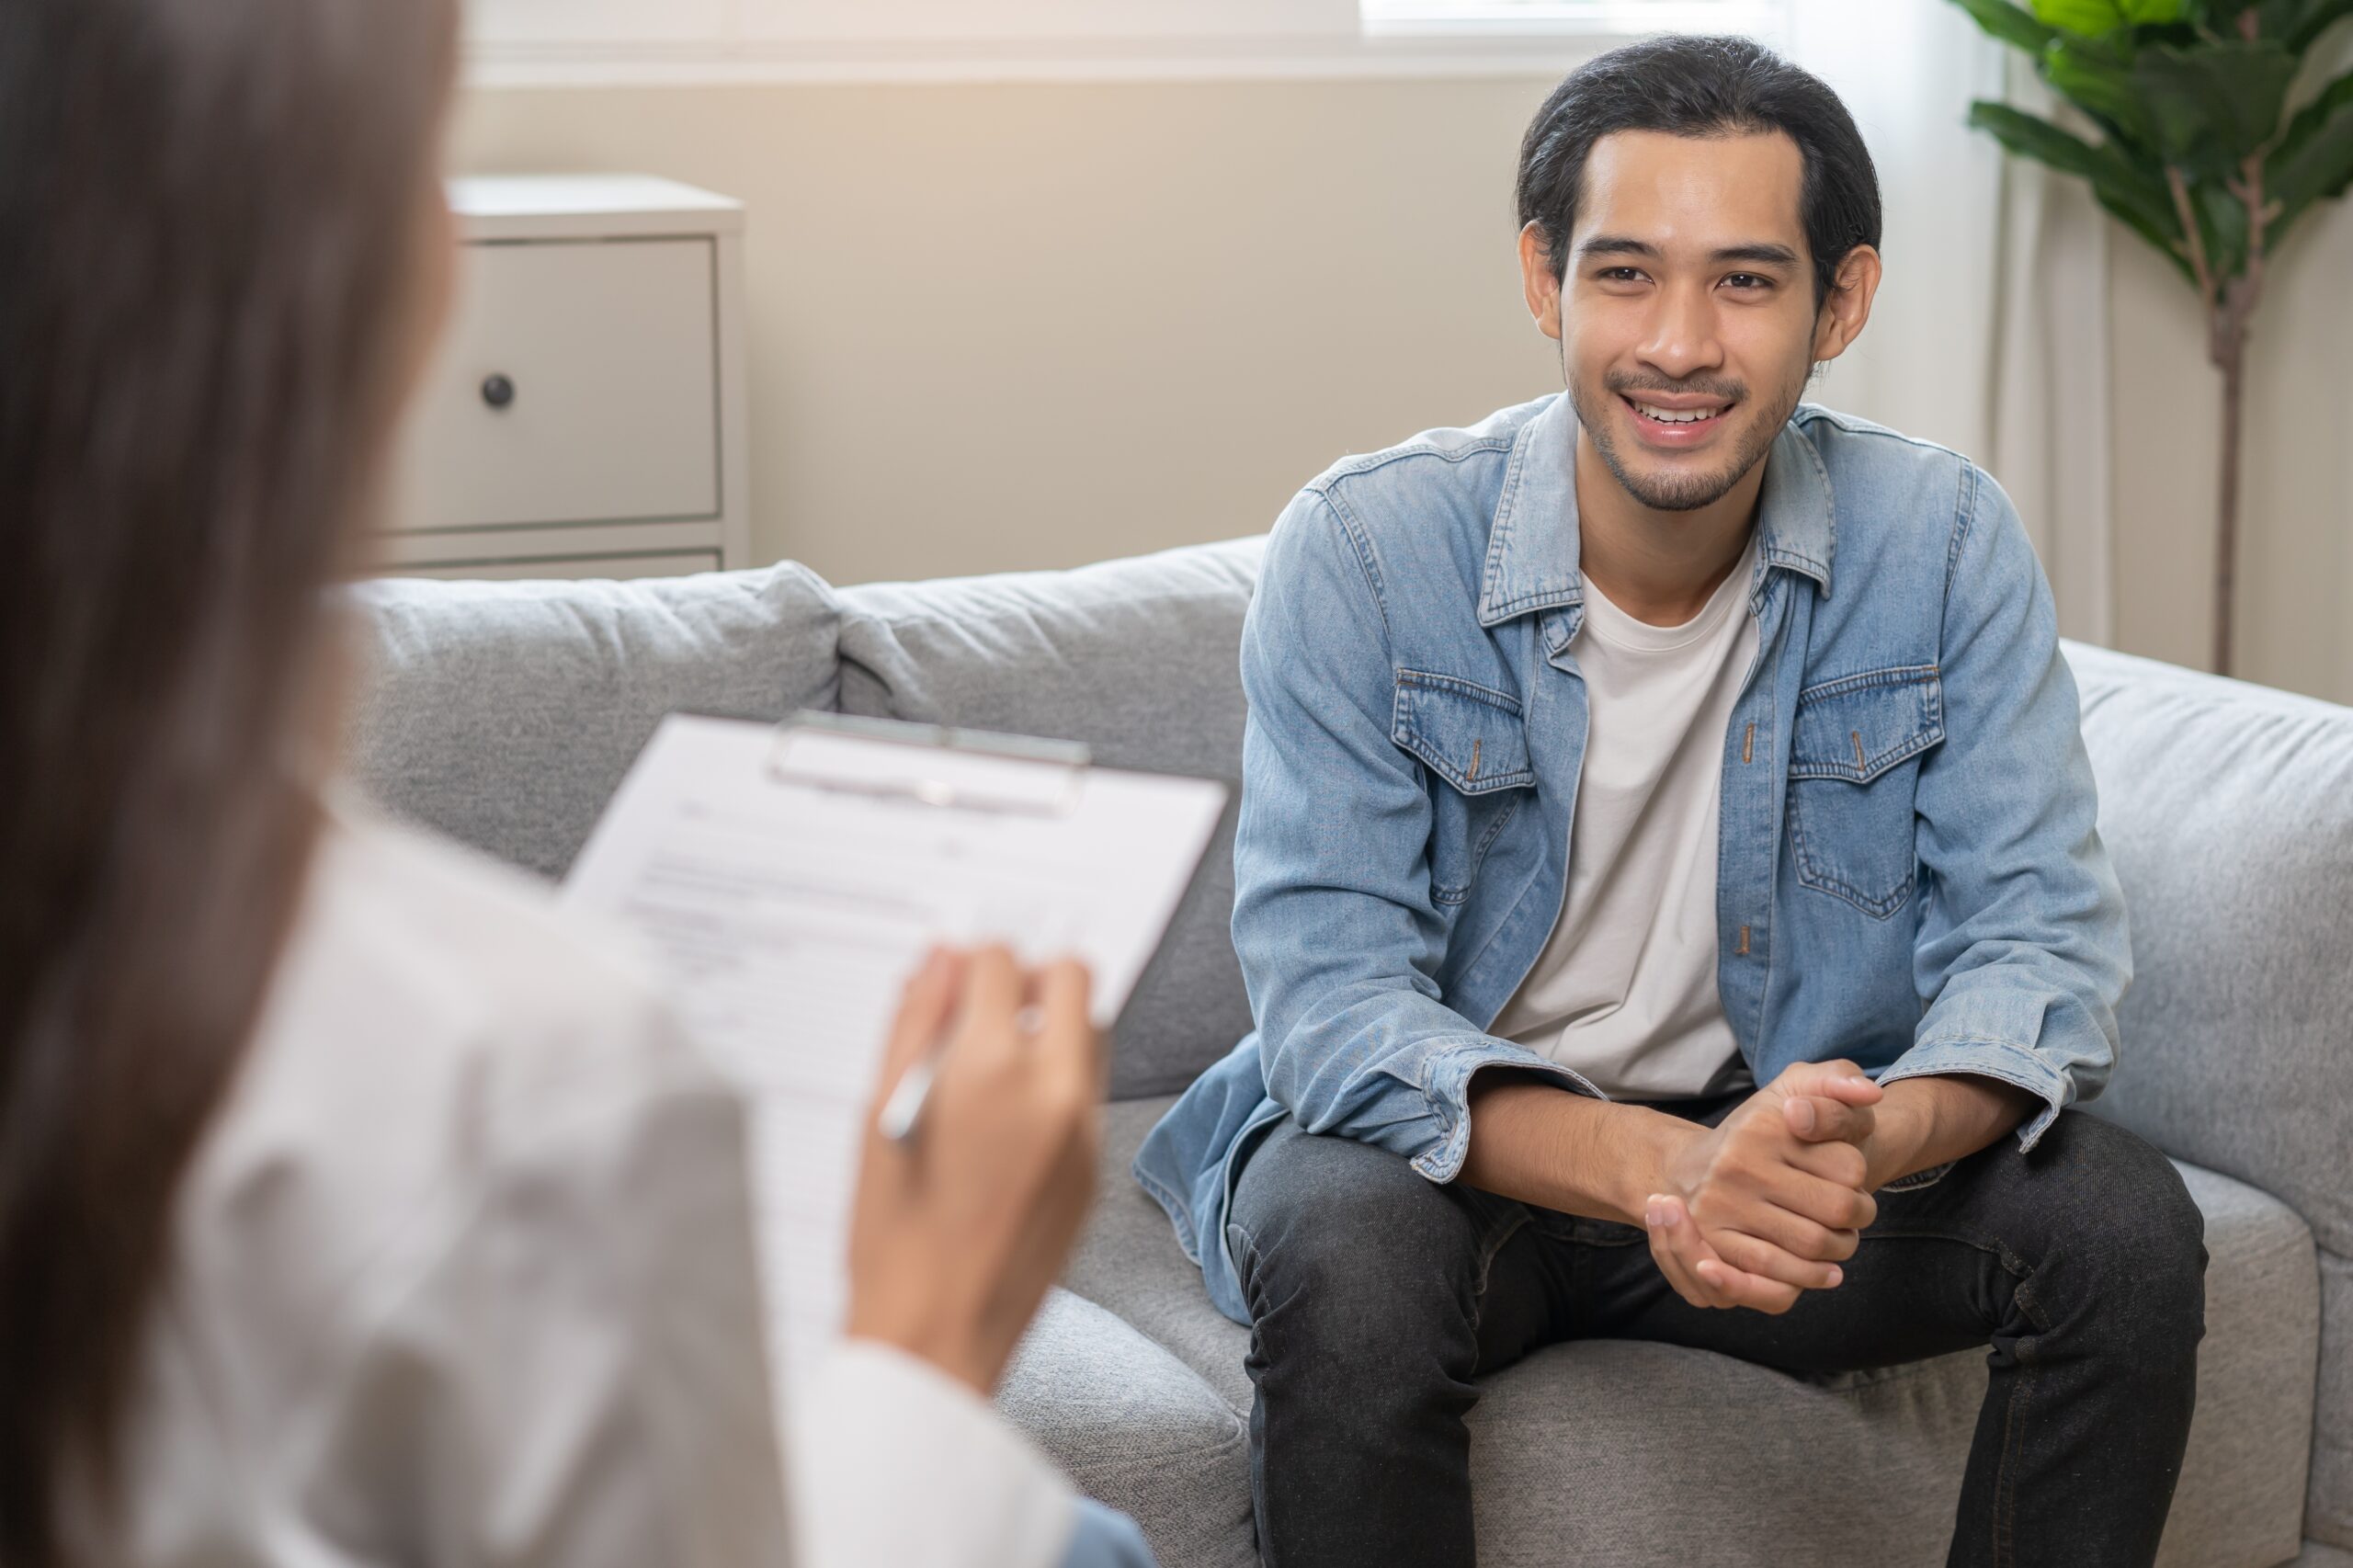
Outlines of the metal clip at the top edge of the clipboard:
M 835 742 L 882 742 L 889 751 Z M 1078 742 L 814 709 L 776 725 L 767 753 L 767 777 L 776 784 L 993 817 L 1068 817 L 1092 765 Z

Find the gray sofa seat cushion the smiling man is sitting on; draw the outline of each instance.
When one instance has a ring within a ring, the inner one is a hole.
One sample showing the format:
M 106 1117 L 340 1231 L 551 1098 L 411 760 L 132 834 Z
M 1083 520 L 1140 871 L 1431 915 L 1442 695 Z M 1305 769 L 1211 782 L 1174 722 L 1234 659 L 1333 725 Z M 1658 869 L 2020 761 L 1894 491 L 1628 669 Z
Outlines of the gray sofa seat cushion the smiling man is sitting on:
M 1167 1217 L 1125 1175 L 1167 1104 L 1111 1107 L 1104 1201 L 1066 1285 L 1247 1413 L 1249 1333 L 1209 1307 Z M 2301 1535 L 2313 1241 L 2275 1198 L 2212 1170 L 2181 1175 L 2212 1264 L 2198 1422 L 2160 1563 L 2266 1568 Z M 1984 1391 L 1981 1351 L 1812 1380 L 1666 1344 L 1555 1344 L 1482 1380 L 1480 1563 L 1929 1568 L 1946 1556 Z

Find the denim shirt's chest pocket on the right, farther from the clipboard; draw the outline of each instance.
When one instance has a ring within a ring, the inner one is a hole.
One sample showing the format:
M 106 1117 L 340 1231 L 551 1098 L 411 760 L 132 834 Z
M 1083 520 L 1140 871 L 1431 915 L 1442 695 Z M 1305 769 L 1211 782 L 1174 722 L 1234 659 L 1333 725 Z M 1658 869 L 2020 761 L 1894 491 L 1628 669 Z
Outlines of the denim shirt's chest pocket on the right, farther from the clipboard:
M 1798 695 L 1788 758 L 1788 833 L 1798 881 L 1885 921 L 1920 873 L 1913 789 L 1944 742 L 1937 666 L 1880 669 Z

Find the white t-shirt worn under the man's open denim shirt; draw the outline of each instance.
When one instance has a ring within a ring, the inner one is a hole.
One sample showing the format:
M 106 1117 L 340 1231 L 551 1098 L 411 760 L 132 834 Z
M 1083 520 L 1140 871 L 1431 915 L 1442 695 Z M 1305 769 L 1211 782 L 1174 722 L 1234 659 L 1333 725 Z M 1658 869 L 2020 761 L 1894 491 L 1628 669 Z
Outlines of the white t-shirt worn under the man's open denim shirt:
M 1758 652 L 1755 537 L 1682 626 L 1649 626 L 1586 579 L 1569 645 L 1591 727 L 1569 888 L 1537 968 L 1492 1034 L 1614 1099 L 1746 1088 L 1715 994 L 1715 819 L 1725 730 Z

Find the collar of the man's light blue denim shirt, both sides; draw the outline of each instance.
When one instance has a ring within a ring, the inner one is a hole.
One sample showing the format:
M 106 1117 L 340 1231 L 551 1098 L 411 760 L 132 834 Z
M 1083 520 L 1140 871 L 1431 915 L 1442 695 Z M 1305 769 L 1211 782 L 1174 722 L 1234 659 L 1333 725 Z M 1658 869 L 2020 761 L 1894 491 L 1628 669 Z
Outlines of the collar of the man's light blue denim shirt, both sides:
M 1831 593 L 1831 551 L 1838 544 L 1838 501 L 1831 473 L 1795 424 L 1781 426 L 1765 457 L 1758 506 L 1758 574 L 1751 610 L 1765 598 L 1765 572 L 1786 567 Z M 1504 497 L 1487 537 L 1478 624 L 1499 626 L 1534 610 L 1584 605 L 1577 570 L 1577 412 L 1567 393 L 1520 426 L 1504 471 Z

